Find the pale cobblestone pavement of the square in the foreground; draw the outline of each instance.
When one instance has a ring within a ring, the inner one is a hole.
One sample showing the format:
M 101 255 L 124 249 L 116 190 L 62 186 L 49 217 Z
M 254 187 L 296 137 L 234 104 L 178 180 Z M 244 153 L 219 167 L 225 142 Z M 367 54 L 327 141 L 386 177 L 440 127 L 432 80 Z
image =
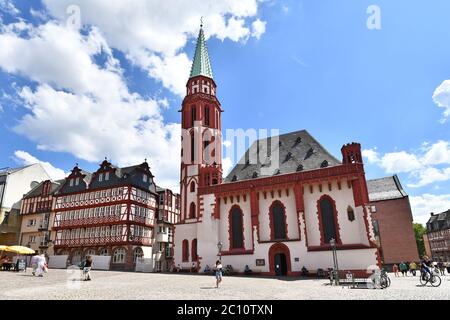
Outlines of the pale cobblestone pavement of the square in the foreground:
M 146 300 L 267 300 L 267 299 L 450 299 L 450 276 L 438 288 L 419 286 L 418 277 L 396 278 L 386 290 L 331 287 L 327 280 L 224 277 L 190 274 L 143 274 L 93 271 L 93 281 L 80 281 L 79 270 L 50 270 L 44 278 L 27 273 L 0 272 L 3 299 L 146 299 Z

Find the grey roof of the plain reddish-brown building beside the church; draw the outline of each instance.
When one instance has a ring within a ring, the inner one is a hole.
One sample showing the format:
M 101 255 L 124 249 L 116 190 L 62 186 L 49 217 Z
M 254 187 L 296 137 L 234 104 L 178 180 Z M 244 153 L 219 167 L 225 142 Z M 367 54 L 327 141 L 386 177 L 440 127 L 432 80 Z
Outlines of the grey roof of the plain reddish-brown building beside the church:
M 407 197 L 397 175 L 368 180 L 369 201 L 393 200 Z

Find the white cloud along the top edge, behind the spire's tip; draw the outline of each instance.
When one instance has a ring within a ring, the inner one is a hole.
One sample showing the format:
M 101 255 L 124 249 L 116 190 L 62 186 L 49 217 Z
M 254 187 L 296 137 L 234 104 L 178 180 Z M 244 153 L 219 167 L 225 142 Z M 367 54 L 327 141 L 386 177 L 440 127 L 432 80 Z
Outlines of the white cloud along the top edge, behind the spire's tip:
M 184 95 L 190 61 L 182 49 L 197 36 L 204 17 L 206 36 L 246 41 L 261 37 L 265 22 L 255 19 L 257 0 L 44 0 L 50 14 L 68 18 L 69 5 L 78 5 L 84 25 L 102 30 L 109 45 L 180 96 Z

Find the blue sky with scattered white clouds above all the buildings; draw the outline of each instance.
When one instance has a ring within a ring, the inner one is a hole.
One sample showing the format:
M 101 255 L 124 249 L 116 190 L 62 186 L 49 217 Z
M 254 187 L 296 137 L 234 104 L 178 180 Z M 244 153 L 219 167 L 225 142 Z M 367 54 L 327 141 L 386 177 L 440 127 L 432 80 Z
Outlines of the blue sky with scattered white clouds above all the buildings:
M 61 175 L 147 157 L 160 184 L 176 185 L 169 154 L 204 15 L 224 128 L 307 129 L 338 158 L 360 142 L 367 178 L 398 173 L 417 221 L 450 208 L 448 1 L 31 3 L 0 0 L 0 167 L 36 160 Z M 81 8 L 78 36 L 64 34 L 69 4 Z M 370 5 L 380 30 L 367 28 Z M 135 130 L 120 119 L 130 110 Z

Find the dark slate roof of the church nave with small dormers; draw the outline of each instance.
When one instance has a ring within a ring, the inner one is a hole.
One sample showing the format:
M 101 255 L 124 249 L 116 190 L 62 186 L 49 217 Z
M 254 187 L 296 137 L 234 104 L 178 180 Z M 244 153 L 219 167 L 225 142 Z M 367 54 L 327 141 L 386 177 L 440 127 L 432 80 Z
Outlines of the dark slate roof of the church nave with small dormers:
M 260 139 L 255 141 L 241 158 L 239 163 L 231 170 L 225 182 L 242 181 L 248 179 L 269 177 L 278 174 L 287 174 L 298 171 L 315 170 L 323 167 L 340 165 L 341 162 L 331 155 L 316 139 L 306 130 L 291 132 L 278 136 L 279 145 L 275 146 L 275 151 L 279 150 L 279 168 L 274 172 L 262 174 L 261 169 L 270 167 L 272 161 L 271 139 Z M 258 159 L 258 152 L 262 161 L 250 161 Z

